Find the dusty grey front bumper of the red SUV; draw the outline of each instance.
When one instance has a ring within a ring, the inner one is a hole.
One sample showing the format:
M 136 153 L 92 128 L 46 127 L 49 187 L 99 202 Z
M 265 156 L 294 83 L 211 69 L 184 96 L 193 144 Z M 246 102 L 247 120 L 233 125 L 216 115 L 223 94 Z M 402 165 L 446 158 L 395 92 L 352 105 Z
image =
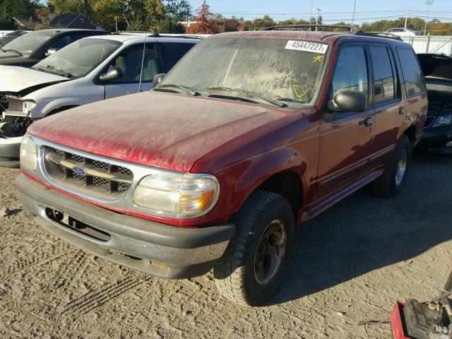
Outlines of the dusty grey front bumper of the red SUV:
M 90 254 L 162 278 L 207 273 L 235 232 L 234 225 L 186 229 L 115 213 L 49 189 L 23 174 L 16 185 L 23 205 L 45 230 Z M 69 226 L 56 221 L 50 211 L 69 215 L 78 223 Z

